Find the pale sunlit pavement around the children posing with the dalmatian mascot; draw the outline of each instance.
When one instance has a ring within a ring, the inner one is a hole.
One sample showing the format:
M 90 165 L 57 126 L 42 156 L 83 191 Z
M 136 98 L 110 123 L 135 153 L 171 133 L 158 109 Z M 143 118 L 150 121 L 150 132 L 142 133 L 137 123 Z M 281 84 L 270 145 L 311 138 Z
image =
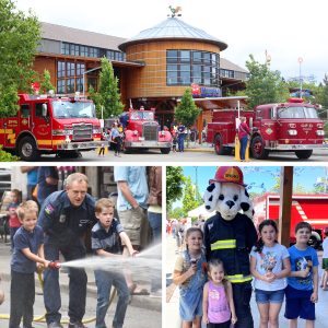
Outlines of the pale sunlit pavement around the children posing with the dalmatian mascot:
M 166 273 L 166 298 L 168 303 L 164 306 L 164 317 L 166 323 L 164 328 L 180 328 L 181 323 L 178 314 L 179 306 L 179 291 L 178 288 L 175 288 L 172 284 L 172 272 L 174 270 L 174 265 L 177 255 L 175 254 L 176 244 L 172 235 L 166 236 L 166 258 L 165 261 L 165 273 Z M 319 261 L 321 263 L 321 251 L 318 253 Z M 321 276 L 321 269 L 319 269 L 319 277 Z M 251 313 L 254 317 L 254 327 L 259 327 L 259 313 L 255 302 L 255 295 L 253 293 L 250 301 Z M 316 327 L 328 328 L 328 291 L 324 292 L 319 289 L 319 302 L 316 304 Z M 279 316 L 279 326 L 284 328 L 288 327 L 288 320 L 283 317 L 284 304 L 282 305 L 280 316 Z M 298 325 L 298 327 L 305 327 L 305 323 Z

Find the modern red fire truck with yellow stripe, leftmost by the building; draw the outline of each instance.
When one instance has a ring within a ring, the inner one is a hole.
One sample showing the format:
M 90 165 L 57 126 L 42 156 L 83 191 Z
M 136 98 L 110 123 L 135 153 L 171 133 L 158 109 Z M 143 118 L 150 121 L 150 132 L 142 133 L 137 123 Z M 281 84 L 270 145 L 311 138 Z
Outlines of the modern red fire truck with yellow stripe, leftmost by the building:
M 23 161 L 40 154 L 77 157 L 101 143 L 101 122 L 92 101 L 68 96 L 19 95 L 14 117 L 0 118 L 0 142 Z

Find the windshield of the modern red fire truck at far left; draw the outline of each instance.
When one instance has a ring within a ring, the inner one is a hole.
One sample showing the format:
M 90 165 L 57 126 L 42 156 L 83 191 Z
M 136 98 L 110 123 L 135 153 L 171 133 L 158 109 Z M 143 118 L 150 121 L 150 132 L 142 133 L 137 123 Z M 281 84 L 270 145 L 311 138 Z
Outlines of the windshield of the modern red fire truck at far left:
M 91 102 L 54 101 L 52 110 L 57 118 L 95 118 L 94 104 Z

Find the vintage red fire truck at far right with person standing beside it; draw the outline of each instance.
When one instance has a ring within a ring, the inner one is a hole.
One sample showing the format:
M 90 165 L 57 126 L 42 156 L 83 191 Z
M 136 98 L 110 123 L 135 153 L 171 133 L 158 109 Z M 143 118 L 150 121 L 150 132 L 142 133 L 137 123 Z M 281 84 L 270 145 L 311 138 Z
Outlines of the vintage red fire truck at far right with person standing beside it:
M 234 149 L 237 118 L 245 116 L 253 130 L 250 154 L 263 160 L 270 152 L 295 152 L 308 159 L 314 149 L 327 149 L 324 122 L 317 106 L 292 98 L 288 103 L 259 105 L 253 110 L 218 109 L 208 124 L 207 142 L 214 144 L 216 154 Z

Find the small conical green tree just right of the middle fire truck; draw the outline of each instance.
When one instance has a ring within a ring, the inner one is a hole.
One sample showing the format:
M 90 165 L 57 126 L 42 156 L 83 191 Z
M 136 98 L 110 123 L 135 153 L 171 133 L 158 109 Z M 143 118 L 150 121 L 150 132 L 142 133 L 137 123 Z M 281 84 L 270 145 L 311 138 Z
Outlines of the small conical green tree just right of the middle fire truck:
M 191 89 L 187 87 L 181 97 L 181 102 L 175 109 L 175 118 L 177 121 L 183 122 L 186 127 L 190 128 L 201 109 L 199 109 L 192 98 Z

